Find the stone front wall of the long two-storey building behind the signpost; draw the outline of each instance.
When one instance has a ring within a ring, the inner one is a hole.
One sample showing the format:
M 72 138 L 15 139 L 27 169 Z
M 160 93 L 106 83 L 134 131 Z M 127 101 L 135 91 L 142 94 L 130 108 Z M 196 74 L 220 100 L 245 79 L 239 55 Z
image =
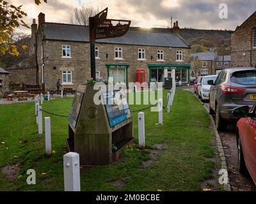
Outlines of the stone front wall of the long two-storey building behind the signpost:
M 56 81 L 62 77 L 62 71 L 72 71 L 72 84 L 76 89 L 78 84 L 84 84 L 90 78 L 90 45 L 89 43 L 70 41 L 43 41 L 44 45 L 44 74 L 45 91 L 56 89 Z M 62 45 L 70 45 L 71 58 L 62 57 Z M 41 45 L 39 45 L 41 46 Z M 108 78 L 106 64 L 129 64 L 128 81 L 135 82 L 136 69 L 146 71 L 146 80 L 149 81 L 148 64 L 189 64 L 189 48 L 148 47 L 138 45 L 115 45 L 107 43 L 96 43 L 99 47 L 99 59 L 96 59 L 96 71 L 100 71 L 100 77 Z M 115 47 L 122 47 L 123 59 L 116 60 Z M 144 48 L 146 60 L 138 61 L 138 48 Z M 38 48 L 40 50 L 40 48 Z M 157 50 L 164 50 L 164 61 L 157 61 Z M 176 52 L 180 50 L 183 61 L 176 61 Z M 39 51 L 40 53 L 40 51 Z M 38 55 L 38 59 L 41 55 Z M 40 76 L 42 62 L 40 63 Z M 41 77 L 40 77 L 41 78 Z

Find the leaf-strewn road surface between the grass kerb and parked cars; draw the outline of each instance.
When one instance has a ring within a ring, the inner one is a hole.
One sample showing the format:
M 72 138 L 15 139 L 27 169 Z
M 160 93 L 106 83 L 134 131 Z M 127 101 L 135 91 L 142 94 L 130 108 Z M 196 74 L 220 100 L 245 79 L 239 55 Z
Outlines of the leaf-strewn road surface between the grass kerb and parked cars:
M 193 86 L 181 87 L 194 92 Z M 204 103 L 209 110 L 209 103 Z M 220 132 L 221 142 L 226 156 L 228 175 L 232 191 L 256 191 L 250 175 L 242 175 L 238 169 L 237 143 L 236 143 L 236 124 L 229 124 L 227 130 Z

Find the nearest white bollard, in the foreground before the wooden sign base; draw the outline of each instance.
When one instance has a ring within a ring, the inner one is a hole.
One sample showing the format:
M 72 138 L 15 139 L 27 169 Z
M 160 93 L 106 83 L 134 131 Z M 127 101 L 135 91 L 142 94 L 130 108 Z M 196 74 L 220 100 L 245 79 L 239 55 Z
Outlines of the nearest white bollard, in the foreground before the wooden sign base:
M 63 156 L 64 190 L 81 191 L 79 154 L 69 152 Z

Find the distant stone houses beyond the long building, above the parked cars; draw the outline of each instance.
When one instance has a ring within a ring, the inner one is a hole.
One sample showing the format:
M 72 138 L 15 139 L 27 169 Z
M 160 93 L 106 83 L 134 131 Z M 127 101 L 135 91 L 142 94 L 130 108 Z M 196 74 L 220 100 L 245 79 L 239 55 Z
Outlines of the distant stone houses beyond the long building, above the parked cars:
M 230 68 L 230 55 L 218 56 L 216 52 L 198 52 L 191 57 L 191 77 L 218 75 L 222 69 Z

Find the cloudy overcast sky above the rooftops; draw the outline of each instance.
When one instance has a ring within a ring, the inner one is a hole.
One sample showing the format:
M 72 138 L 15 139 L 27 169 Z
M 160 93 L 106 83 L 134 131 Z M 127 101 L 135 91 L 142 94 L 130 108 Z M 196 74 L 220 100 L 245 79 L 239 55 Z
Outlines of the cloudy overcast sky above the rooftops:
M 42 0 L 43 1 L 43 0 Z M 45 13 L 47 22 L 70 23 L 70 13 L 81 4 L 100 10 L 109 8 L 108 18 L 132 20 L 132 26 L 170 27 L 170 17 L 179 20 L 180 27 L 196 29 L 236 29 L 256 10 L 255 0 L 48 0 L 35 5 L 34 0 L 9 0 L 23 5 L 30 25 L 38 13 Z M 219 17 L 219 5 L 228 6 L 228 18 Z M 21 31 L 29 32 L 22 28 Z

